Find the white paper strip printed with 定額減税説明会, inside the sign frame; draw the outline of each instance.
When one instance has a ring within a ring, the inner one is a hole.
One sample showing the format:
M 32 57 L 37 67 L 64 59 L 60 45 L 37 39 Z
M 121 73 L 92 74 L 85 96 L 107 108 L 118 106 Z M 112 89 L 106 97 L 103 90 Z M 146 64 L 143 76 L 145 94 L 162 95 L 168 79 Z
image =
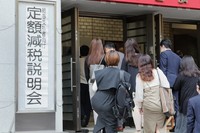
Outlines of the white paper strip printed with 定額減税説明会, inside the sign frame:
M 26 108 L 48 107 L 48 10 L 26 7 Z

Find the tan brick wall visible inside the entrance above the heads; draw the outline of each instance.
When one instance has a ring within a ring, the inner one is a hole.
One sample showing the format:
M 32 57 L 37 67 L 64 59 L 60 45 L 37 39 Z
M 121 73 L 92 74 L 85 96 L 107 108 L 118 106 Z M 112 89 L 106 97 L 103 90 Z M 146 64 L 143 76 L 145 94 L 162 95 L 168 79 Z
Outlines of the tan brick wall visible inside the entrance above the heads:
M 90 43 L 93 38 L 123 41 L 123 21 L 121 19 L 79 17 L 80 43 Z

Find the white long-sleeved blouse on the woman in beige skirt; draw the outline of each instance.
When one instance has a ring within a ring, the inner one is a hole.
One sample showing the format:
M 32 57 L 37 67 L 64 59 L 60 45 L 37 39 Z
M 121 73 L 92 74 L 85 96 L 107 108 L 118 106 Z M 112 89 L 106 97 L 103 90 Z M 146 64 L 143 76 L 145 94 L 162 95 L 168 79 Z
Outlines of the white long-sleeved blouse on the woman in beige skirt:
M 142 108 L 143 93 L 144 93 L 145 88 L 158 86 L 159 84 L 162 87 L 166 87 L 166 88 L 170 87 L 169 82 L 167 80 L 167 77 L 165 76 L 165 74 L 159 68 L 153 69 L 152 71 L 153 71 L 154 79 L 152 81 L 149 81 L 149 82 L 143 81 L 139 74 L 137 74 L 137 76 L 136 76 L 136 88 L 135 88 L 136 93 L 135 93 L 134 101 L 135 101 L 135 105 L 138 108 Z M 159 81 L 158 74 L 159 74 L 159 77 L 160 77 L 160 81 Z

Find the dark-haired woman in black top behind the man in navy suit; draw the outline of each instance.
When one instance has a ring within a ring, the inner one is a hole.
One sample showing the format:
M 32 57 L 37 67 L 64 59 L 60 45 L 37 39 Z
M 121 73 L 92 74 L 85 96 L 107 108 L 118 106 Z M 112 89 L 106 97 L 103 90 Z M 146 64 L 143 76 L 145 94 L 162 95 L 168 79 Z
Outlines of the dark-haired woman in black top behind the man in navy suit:
M 180 73 L 174 83 L 178 91 L 179 111 L 176 118 L 175 133 L 187 133 L 187 107 L 189 98 L 198 95 L 196 84 L 200 71 L 192 56 L 184 56 L 180 62 Z

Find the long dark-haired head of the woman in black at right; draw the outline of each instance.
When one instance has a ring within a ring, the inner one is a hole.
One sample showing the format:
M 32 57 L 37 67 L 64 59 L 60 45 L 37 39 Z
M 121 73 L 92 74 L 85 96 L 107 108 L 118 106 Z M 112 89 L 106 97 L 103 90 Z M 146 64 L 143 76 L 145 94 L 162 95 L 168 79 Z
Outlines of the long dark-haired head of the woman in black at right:
M 180 62 L 180 74 L 189 77 L 200 76 L 200 71 L 192 56 L 190 55 L 183 56 Z

